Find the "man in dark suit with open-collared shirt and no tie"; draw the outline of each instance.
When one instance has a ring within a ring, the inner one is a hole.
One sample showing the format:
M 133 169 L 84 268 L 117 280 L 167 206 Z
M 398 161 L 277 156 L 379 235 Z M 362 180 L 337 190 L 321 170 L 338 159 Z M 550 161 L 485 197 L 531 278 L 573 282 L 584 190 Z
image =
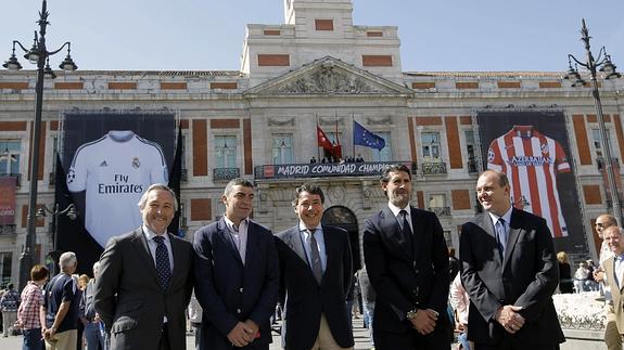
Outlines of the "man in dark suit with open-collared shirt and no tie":
M 279 262 L 272 233 L 249 219 L 249 180 L 224 191 L 224 217 L 195 232 L 195 297 L 203 308 L 200 349 L 268 349 Z

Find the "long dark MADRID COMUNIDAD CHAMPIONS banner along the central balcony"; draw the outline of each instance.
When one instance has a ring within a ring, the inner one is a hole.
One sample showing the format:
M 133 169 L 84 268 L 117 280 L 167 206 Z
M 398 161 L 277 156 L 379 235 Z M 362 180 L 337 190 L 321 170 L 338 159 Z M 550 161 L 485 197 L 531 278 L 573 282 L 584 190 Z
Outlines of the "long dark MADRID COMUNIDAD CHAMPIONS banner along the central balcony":
M 254 178 L 379 177 L 385 168 L 394 164 L 405 164 L 412 173 L 417 171 L 416 163 L 412 161 L 281 164 L 255 167 Z

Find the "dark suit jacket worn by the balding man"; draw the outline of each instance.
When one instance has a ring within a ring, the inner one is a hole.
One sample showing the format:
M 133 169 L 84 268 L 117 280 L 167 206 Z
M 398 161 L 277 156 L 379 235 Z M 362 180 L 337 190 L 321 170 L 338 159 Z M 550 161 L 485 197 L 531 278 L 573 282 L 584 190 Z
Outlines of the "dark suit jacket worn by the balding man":
M 496 345 L 512 337 L 531 348 L 565 341 L 552 303 L 559 268 L 546 220 L 513 209 L 501 260 L 489 213 L 476 216 L 461 228 L 461 281 L 470 296 L 468 338 Z M 506 304 L 522 307 L 524 326 L 511 335 L 495 320 Z

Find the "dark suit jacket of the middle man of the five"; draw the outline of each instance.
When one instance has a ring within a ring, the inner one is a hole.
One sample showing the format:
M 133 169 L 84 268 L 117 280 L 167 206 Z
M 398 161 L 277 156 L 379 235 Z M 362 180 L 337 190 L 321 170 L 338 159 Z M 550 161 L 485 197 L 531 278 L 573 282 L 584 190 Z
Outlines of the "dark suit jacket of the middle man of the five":
M 298 225 L 281 232 L 276 242 L 285 288 L 282 337 L 286 349 L 311 349 L 324 313 L 332 336 L 342 348 L 354 346 L 346 295 L 353 276 L 348 233 L 322 226 L 327 267 L 321 284 L 316 281 L 300 235 Z

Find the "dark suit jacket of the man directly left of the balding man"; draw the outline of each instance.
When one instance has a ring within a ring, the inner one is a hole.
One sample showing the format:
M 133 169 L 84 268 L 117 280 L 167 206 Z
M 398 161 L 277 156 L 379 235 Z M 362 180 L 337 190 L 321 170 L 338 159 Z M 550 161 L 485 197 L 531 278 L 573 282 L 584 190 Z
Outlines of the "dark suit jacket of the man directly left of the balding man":
M 450 281 L 442 225 L 431 211 L 411 207 L 410 217 L 411 237 L 404 236 L 389 207 L 368 218 L 364 225 L 366 270 L 377 291 L 375 345 L 384 334 L 402 333 L 411 338 L 412 327 L 406 314 L 415 308 L 440 313 L 434 333 L 449 328 L 449 320 L 444 315 Z

